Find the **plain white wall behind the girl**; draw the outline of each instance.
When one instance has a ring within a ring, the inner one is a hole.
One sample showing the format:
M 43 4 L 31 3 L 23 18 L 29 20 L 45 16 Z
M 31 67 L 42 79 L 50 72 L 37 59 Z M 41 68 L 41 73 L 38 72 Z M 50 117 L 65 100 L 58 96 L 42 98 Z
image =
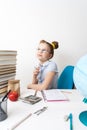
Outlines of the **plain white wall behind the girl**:
M 87 0 L 1 0 L 0 49 L 17 50 L 17 79 L 32 79 L 41 39 L 57 40 L 53 60 L 59 73 L 87 53 Z

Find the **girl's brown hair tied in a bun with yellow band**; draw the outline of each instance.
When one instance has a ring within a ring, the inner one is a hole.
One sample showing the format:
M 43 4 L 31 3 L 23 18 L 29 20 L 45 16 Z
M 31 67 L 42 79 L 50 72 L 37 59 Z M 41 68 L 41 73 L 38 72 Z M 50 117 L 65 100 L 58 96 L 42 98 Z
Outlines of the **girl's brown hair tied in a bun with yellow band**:
M 53 57 L 53 55 L 54 55 L 54 49 L 59 48 L 59 43 L 58 43 L 57 41 L 53 41 L 53 42 L 49 43 L 49 42 L 47 42 L 47 41 L 45 41 L 45 40 L 41 40 L 41 41 L 40 41 L 40 44 L 41 44 L 41 43 L 46 43 L 46 44 L 49 46 L 49 48 L 50 48 L 50 53 L 52 54 L 52 57 Z M 52 57 L 51 57 L 51 58 L 52 58 Z

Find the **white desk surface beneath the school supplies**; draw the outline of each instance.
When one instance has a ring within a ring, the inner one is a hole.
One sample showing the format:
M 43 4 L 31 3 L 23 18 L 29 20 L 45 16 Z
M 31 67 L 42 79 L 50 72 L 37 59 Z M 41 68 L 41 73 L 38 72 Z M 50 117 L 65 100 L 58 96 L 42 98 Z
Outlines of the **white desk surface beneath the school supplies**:
M 32 114 L 22 122 L 15 130 L 70 130 L 69 121 L 64 121 L 64 116 L 73 114 L 73 130 L 87 130 L 79 121 L 79 113 L 87 110 L 87 104 L 83 103 L 83 97 L 77 90 L 63 90 L 69 101 L 44 102 L 44 100 L 30 105 L 22 101 L 11 102 L 8 100 L 8 118 L 0 122 L 0 130 L 11 128 L 16 122 L 24 118 L 28 113 L 34 113 L 43 106 L 48 109 L 39 116 Z M 71 93 L 68 93 L 71 92 Z M 23 90 L 21 95 L 34 94 L 33 90 Z M 41 93 L 38 92 L 41 96 Z

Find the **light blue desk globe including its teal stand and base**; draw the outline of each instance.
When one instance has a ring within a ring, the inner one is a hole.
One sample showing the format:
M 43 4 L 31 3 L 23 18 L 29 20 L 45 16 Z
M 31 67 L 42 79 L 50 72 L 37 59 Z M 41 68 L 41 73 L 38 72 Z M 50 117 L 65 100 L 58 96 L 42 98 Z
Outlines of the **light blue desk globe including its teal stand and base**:
M 85 97 L 83 101 L 87 103 L 87 55 L 81 57 L 74 67 L 73 80 L 75 87 Z M 79 120 L 87 126 L 87 110 L 79 114 Z

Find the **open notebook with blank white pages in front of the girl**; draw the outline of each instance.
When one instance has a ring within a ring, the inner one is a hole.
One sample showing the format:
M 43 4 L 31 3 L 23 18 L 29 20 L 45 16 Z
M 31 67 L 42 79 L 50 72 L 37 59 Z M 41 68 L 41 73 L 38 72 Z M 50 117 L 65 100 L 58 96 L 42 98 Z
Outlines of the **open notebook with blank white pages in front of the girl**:
M 45 101 L 68 101 L 68 98 L 58 89 L 43 90 L 42 96 Z

